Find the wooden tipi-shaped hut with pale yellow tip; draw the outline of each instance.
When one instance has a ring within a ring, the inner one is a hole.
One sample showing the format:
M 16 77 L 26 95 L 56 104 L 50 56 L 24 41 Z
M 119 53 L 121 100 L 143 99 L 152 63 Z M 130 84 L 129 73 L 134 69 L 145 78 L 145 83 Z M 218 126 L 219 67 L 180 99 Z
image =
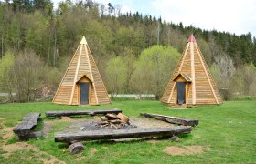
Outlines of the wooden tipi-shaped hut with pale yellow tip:
M 66 105 L 111 103 L 84 36 L 59 84 L 53 103 Z

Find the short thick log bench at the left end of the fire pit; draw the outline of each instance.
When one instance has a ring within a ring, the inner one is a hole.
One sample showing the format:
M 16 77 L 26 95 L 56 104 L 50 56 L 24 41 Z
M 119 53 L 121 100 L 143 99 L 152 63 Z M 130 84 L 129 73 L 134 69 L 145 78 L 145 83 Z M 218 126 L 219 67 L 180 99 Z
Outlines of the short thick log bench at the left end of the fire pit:
M 22 122 L 19 123 L 14 132 L 17 137 L 21 140 L 27 140 L 28 138 L 37 138 L 39 133 L 35 133 L 32 130 L 36 128 L 37 121 L 40 118 L 40 113 L 29 113 L 26 117 L 22 119 Z

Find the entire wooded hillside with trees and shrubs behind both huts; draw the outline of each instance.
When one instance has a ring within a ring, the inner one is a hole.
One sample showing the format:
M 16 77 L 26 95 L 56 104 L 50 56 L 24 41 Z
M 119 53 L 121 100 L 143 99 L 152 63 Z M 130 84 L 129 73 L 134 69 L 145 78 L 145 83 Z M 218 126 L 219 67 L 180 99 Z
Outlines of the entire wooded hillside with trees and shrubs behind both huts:
M 0 2 L 0 92 L 7 101 L 49 100 L 82 36 L 109 93 L 159 99 L 194 34 L 224 99 L 256 96 L 256 38 L 121 13 L 121 5 L 70 0 Z M 12 93 L 16 93 L 13 95 Z M 49 98 L 49 99 L 48 99 Z

